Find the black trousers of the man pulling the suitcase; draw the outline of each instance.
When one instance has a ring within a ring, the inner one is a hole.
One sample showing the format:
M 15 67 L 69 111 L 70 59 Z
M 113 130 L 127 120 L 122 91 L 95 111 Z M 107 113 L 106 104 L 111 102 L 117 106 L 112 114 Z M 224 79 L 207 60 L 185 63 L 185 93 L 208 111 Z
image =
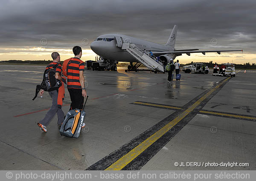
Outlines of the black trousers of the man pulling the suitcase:
M 70 93 L 70 110 L 83 109 L 84 97 L 82 96 L 82 89 L 67 89 Z

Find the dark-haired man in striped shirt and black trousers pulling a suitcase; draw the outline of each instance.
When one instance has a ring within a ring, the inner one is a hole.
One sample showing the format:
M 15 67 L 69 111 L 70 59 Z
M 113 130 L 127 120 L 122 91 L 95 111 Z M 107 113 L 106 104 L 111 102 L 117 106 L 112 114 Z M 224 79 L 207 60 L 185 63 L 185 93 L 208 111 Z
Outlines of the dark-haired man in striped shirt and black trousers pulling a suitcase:
M 84 86 L 84 62 L 80 60 L 82 49 L 74 46 L 75 57 L 67 63 L 67 89 L 70 93 L 71 109 L 83 109 L 84 97 L 87 96 Z

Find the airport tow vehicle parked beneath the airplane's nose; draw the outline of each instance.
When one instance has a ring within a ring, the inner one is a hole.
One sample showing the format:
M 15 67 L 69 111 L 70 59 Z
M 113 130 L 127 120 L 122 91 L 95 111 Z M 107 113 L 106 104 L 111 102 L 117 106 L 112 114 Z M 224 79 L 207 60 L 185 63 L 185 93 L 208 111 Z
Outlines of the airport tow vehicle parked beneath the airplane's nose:
M 93 70 L 113 70 L 117 71 L 116 64 L 118 62 L 116 60 L 107 60 L 103 57 L 97 57 L 96 62 L 93 62 L 92 68 Z

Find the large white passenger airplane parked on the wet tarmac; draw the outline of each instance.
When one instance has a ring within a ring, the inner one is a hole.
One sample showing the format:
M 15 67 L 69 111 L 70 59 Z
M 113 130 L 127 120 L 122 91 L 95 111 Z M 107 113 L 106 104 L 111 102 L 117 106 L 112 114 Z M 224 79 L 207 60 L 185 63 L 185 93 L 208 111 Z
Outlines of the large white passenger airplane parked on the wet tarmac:
M 152 52 L 155 57 L 159 57 L 159 60 L 163 64 L 163 66 L 167 65 L 171 59 L 175 59 L 175 57 L 180 56 L 182 54 L 189 55 L 191 53 L 202 53 L 205 55 L 207 52 L 217 52 L 221 54 L 221 52 L 235 52 L 235 51 L 243 51 L 243 50 L 211 50 L 204 51 L 199 49 L 175 49 L 175 41 L 177 36 L 177 25 L 175 25 L 172 29 L 172 33 L 165 45 L 161 45 L 158 43 L 153 43 L 146 40 L 141 40 L 139 38 L 127 36 L 124 34 L 103 34 L 97 37 L 91 44 L 90 48 L 97 55 L 100 56 L 98 62 L 99 67 L 103 67 L 103 69 L 108 68 L 112 70 L 117 70 L 116 63 L 118 62 L 130 62 L 130 66 L 128 66 L 128 71 L 136 71 L 138 67 L 143 63 L 136 56 L 132 56 L 131 53 L 127 51 L 126 48 L 122 48 L 124 43 L 133 44 L 137 47 L 137 49 L 145 52 Z M 153 56 L 153 57 L 154 57 Z M 151 58 L 153 58 L 151 57 Z M 155 59 L 154 59 L 155 60 Z M 136 63 L 133 65 L 133 63 Z M 158 61 L 157 61 L 158 62 Z M 145 65 L 145 63 L 143 63 Z M 147 66 L 147 65 L 146 65 Z M 149 67 L 149 66 L 148 66 Z

